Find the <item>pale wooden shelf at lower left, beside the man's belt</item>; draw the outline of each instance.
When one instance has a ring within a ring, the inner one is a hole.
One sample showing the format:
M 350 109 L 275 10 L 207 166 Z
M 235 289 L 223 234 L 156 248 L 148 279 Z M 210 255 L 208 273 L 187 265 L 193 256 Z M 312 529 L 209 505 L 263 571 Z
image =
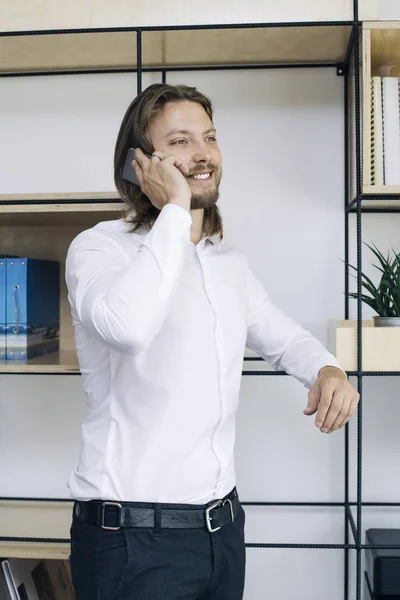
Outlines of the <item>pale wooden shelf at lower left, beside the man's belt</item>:
M 0 537 L 69 540 L 71 502 L 1 501 Z M 67 560 L 69 542 L 4 542 L 0 556 Z

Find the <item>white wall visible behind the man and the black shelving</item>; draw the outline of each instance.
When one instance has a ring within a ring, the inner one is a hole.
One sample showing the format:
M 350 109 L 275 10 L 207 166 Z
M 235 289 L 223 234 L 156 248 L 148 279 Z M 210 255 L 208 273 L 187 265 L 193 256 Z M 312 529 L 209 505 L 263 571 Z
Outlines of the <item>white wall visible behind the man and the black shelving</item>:
M 328 320 L 342 318 L 344 307 L 343 79 L 333 69 L 293 69 L 169 81 L 195 84 L 214 101 L 226 242 L 246 252 L 277 304 L 326 342 Z M 132 75 L 0 80 L 0 192 L 113 189 L 113 145 L 135 85 Z M 368 219 L 374 239 L 394 223 Z M 394 225 L 390 231 L 399 242 Z M 368 499 L 399 492 L 395 386 L 365 383 Z M 315 429 L 298 382 L 244 377 L 241 400 L 244 501 L 342 500 L 343 432 Z M 66 497 L 83 414 L 79 377 L 0 376 L 0 496 Z M 343 521 L 337 509 L 248 508 L 247 540 L 342 543 Z M 380 513 L 368 521 L 383 522 L 391 520 Z M 339 600 L 342 590 L 341 551 L 248 552 L 246 600 Z

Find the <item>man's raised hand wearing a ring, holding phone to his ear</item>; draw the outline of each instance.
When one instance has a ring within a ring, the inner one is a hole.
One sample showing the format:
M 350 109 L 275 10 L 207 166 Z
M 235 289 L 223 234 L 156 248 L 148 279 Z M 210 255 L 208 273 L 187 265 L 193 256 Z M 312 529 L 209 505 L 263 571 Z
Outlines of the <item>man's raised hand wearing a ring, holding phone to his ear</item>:
M 140 148 L 135 150 L 132 166 L 143 193 L 158 210 L 166 204 L 176 204 L 190 211 L 192 192 L 185 177 L 189 168 L 176 156 L 157 150 L 154 155 L 149 158 Z

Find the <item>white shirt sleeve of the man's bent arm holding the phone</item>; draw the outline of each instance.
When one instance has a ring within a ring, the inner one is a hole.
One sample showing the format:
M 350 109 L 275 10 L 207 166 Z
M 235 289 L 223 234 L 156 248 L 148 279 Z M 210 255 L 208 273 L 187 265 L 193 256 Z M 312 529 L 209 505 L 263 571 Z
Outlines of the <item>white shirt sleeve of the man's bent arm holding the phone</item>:
M 190 213 L 166 205 L 128 265 L 119 245 L 96 229 L 71 244 L 68 298 L 84 327 L 131 355 L 146 351 L 159 332 L 190 243 Z

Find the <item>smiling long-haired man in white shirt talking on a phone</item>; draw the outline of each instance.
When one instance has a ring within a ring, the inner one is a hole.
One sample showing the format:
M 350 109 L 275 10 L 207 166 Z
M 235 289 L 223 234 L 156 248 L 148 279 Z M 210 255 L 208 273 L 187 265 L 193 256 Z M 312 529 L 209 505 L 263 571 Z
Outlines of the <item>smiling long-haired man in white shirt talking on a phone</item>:
M 139 186 L 123 179 L 129 148 Z M 244 512 L 235 413 L 245 345 L 310 388 L 307 415 L 343 427 L 358 394 L 221 243 L 210 101 L 156 84 L 115 150 L 124 219 L 71 244 L 66 279 L 87 397 L 69 486 L 77 600 L 239 600 Z

